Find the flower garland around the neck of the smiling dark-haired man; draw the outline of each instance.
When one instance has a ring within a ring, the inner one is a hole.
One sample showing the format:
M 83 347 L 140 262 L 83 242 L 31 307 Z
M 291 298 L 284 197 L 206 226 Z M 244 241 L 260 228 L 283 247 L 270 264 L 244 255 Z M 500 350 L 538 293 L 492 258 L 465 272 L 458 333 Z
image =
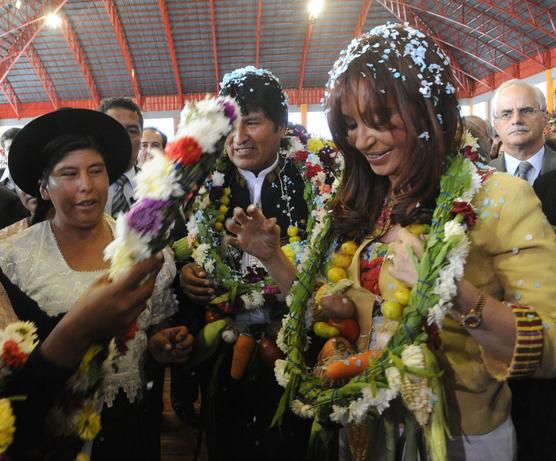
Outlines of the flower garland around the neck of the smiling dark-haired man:
M 342 158 L 329 141 L 309 139 L 307 148 L 294 137 L 284 141 L 286 147 L 279 155 L 286 161 L 294 162 L 305 183 L 304 198 L 309 210 L 306 235 L 310 235 L 312 229 L 322 226 L 324 204 L 338 185 L 335 178 L 342 169 Z M 238 300 L 246 310 L 251 310 L 261 307 L 265 296 L 279 293 L 273 280 L 259 266 L 250 266 L 244 271 L 235 269 L 239 253 L 222 240 L 226 235 L 222 223 L 231 194 L 230 189 L 224 187 L 224 178 L 230 168 L 232 163 L 223 153 L 199 189 L 187 223 L 188 236 L 183 242 L 178 242 L 178 246 L 189 248 L 186 255 L 191 254 L 193 260 L 218 283 L 221 293 L 211 304 L 226 314 L 237 310 L 234 307 Z M 283 193 L 287 195 L 287 191 Z M 283 250 L 300 268 L 308 256 L 306 245 L 298 228 L 291 224 L 288 228 L 290 243 Z

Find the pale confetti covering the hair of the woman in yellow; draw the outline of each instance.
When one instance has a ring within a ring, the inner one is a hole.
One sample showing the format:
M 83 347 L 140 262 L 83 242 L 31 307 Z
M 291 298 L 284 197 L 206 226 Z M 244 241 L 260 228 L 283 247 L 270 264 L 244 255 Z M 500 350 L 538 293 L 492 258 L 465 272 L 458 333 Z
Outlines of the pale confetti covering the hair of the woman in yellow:
M 454 94 L 456 89 L 451 79 L 446 75 L 450 60 L 440 47 L 421 31 L 407 24 L 385 24 L 373 28 L 370 32 L 354 38 L 348 47 L 340 53 L 329 72 L 326 83 L 324 103 L 328 105 L 328 98 L 339 78 L 349 69 L 351 63 L 361 56 L 376 55 L 377 59 L 366 64 L 370 76 L 376 79 L 377 74 L 390 72 L 395 79 L 406 80 L 403 71 L 398 68 L 400 59 L 408 57 L 418 69 L 420 79 L 419 92 L 424 98 L 432 98 L 434 105 L 441 94 Z M 440 62 L 427 62 L 427 57 L 436 55 Z M 384 90 L 382 90 L 384 91 Z

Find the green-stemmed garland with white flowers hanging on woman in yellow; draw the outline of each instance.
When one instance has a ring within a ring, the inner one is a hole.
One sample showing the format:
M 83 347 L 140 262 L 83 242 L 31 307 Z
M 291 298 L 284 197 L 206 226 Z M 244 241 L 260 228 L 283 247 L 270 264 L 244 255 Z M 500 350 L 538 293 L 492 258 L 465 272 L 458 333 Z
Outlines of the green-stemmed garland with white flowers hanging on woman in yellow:
M 465 147 L 461 152 L 464 151 Z M 305 365 L 307 331 L 301 321 L 322 261 L 330 254 L 331 218 L 326 216 L 322 228 L 311 238 L 311 256 L 287 299 L 290 313 L 279 343 L 287 358 L 277 361 L 275 367 L 277 381 L 286 390 L 274 422 L 280 421 L 289 405 L 300 416 L 315 418 L 314 427 L 320 427 L 320 422 L 327 419 L 346 425 L 361 423 L 368 417 L 385 418 L 391 426 L 393 416 L 389 407 L 392 400 L 401 397 L 405 408 L 425 431 L 431 459 L 446 458 L 442 385 L 436 359 L 426 346 L 426 326 L 441 327 L 452 307 L 469 251 L 467 231 L 474 223 L 470 202 L 488 174 L 464 155 L 450 158 L 440 181 L 440 193 L 418 265 L 418 281 L 397 330 L 378 357 L 366 356 L 368 367 L 364 373 L 334 389 Z

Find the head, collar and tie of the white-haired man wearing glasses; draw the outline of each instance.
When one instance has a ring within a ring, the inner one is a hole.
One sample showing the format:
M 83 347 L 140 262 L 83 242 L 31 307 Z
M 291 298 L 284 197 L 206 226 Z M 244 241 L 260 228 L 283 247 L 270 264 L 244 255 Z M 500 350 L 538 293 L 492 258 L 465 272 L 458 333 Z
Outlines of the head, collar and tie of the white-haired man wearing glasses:
M 503 155 L 493 160 L 491 166 L 529 184 L 556 170 L 556 152 L 544 140 L 548 116 L 541 90 L 522 80 L 510 80 L 496 90 L 492 114 Z

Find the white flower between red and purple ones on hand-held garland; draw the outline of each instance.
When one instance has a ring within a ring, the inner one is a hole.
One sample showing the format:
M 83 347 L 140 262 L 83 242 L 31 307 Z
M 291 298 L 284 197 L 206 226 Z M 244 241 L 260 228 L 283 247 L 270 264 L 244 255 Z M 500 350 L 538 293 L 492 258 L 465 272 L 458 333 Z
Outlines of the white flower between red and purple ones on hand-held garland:
M 158 152 L 154 152 L 152 159 L 143 165 L 136 179 L 135 198 L 138 200 L 147 197 L 169 200 L 183 195 L 174 164 Z

